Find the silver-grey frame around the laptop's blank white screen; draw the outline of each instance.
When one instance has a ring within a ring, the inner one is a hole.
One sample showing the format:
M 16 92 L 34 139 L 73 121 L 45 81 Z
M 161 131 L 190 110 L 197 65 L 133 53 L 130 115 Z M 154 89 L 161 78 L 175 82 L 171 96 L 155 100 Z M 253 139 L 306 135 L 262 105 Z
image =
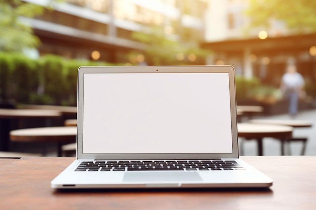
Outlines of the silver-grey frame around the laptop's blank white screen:
M 84 74 L 107 74 L 107 73 L 228 73 L 230 91 L 232 153 L 160 153 L 160 154 L 86 154 L 83 153 L 83 102 L 84 102 Z M 96 160 L 205 160 L 220 158 L 238 158 L 238 132 L 236 112 L 235 73 L 231 65 L 201 65 L 201 66 L 81 66 L 78 69 L 77 87 L 77 159 Z

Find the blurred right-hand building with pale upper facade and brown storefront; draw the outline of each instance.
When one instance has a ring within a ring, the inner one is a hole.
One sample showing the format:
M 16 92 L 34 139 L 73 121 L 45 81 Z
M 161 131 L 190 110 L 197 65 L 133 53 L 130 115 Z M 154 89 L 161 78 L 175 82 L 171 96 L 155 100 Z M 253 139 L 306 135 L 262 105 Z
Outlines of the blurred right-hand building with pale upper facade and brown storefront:
M 275 21 L 267 31 L 258 28 L 245 34 L 249 17 L 244 10 L 249 0 L 208 2 L 201 46 L 215 53 L 207 64 L 230 64 L 237 75 L 258 77 L 263 83 L 278 86 L 286 65 L 295 63 L 307 83 L 316 82 L 316 34 L 293 35 L 281 21 Z

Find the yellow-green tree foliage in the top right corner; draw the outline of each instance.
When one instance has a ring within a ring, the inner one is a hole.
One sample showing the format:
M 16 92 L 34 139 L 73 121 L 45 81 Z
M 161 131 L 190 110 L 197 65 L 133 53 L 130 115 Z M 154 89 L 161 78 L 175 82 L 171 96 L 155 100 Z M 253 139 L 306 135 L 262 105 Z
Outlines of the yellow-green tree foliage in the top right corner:
M 246 15 L 250 27 L 270 28 L 281 21 L 294 33 L 316 32 L 316 1 L 310 0 L 250 0 Z

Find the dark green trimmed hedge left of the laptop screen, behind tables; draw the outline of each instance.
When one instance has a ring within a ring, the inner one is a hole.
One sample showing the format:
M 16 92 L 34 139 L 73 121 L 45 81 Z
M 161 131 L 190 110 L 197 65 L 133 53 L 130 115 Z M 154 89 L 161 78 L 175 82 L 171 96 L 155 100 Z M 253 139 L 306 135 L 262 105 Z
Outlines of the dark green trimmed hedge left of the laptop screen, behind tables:
M 0 53 L 0 103 L 75 106 L 77 71 L 82 65 L 112 64 L 56 55 L 32 60 L 22 54 Z

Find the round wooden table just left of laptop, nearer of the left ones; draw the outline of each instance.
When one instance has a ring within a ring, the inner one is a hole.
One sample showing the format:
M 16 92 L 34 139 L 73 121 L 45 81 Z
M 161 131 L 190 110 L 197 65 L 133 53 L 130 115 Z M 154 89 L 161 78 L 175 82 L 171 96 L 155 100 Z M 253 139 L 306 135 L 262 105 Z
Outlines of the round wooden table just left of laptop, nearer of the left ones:
M 56 142 L 58 156 L 62 156 L 62 145 L 76 142 L 77 127 L 39 127 L 10 131 L 12 142 Z

